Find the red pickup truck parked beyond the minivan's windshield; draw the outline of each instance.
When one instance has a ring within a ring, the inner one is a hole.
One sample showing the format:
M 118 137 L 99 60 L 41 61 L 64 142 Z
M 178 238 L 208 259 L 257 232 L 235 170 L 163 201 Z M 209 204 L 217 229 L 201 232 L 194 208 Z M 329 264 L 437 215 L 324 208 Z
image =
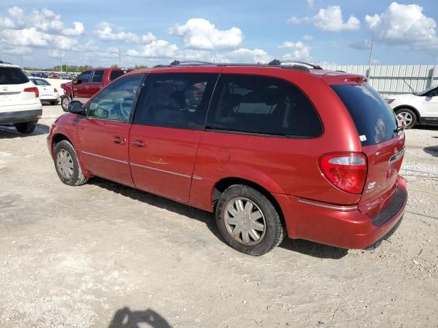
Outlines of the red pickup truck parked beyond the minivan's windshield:
M 61 87 L 64 90 L 64 95 L 61 96 L 62 109 L 67 111 L 68 104 L 72 100 L 87 102 L 105 85 L 130 71 L 125 68 L 93 68 L 82 72 L 73 81 L 62 83 Z

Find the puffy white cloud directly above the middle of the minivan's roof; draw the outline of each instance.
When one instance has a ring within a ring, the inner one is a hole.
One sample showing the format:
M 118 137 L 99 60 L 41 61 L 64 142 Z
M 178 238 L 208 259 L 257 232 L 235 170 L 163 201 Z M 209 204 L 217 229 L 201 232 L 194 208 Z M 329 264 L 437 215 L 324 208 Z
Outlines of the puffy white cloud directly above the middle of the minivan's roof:
M 188 49 L 235 49 L 243 40 L 243 33 L 237 27 L 220 30 L 204 18 L 191 18 L 184 25 L 175 24 L 168 33 L 180 36 Z

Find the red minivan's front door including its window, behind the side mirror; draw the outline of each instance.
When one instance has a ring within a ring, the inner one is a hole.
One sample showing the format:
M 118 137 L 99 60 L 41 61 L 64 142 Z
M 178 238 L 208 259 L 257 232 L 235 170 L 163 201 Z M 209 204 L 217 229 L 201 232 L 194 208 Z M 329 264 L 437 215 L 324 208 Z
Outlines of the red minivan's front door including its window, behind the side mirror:
M 92 98 L 87 116 L 77 128 L 78 148 L 86 169 L 131 187 L 129 128 L 142 79 L 143 75 L 125 77 Z

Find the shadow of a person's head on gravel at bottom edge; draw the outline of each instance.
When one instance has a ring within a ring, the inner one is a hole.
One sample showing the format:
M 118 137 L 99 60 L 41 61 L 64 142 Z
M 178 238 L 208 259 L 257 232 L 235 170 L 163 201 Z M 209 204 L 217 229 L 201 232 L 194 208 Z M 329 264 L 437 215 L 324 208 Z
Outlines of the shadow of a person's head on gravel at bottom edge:
M 140 328 L 146 327 L 145 324 L 153 328 L 172 328 L 165 318 L 151 309 L 131 311 L 129 308 L 117 310 L 108 328 Z

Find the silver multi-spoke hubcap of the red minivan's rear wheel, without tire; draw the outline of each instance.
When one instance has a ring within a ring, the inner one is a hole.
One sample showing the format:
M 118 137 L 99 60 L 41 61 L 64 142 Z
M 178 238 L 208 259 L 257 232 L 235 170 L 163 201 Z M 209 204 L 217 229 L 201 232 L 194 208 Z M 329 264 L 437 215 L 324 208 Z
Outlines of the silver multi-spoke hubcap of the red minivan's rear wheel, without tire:
M 266 232 L 266 220 L 259 206 L 247 198 L 231 200 L 224 213 L 227 231 L 237 243 L 256 245 Z

